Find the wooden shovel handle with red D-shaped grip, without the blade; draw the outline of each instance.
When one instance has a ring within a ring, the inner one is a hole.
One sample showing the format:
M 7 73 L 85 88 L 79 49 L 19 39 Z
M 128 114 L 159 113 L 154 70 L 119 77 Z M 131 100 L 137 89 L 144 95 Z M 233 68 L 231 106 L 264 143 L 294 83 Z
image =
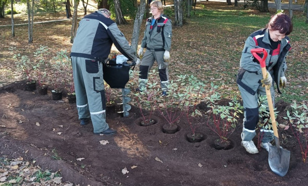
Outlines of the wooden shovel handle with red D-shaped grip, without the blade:
M 263 79 L 265 79 L 267 76 L 267 70 L 266 70 L 266 64 L 265 64 L 265 60 L 268 56 L 267 51 L 264 48 L 256 48 L 256 49 L 251 49 L 250 52 L 252 53 L 253 57 L 255 57 L 260 62 Z M 260 58 L 260 56 L 257 53 L 263 53 L 263 58 Z M 271 85 L 268 85 L 268 86 L 271 86 Z M 272 100 L 271 100 L 270 90 L 268 90 L 267 86 L 265 88 L 265 91 L 266 91 L 267 98 L 268 98 L 269 114 L 270 114 L 271 125 L 274 131 L 274 136 L 276 138 L 279 138 L 276 120 L 275 120 L 274 107 L 273 107 Z

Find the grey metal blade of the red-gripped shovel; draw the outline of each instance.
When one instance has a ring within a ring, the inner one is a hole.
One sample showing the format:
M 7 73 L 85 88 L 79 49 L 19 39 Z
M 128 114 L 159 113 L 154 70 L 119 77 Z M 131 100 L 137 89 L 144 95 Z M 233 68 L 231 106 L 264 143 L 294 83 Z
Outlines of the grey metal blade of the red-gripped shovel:
M 287 174 L 290 163 L 290 151 L 282 147 L 269 146 L 269 167 L 277 175 Z

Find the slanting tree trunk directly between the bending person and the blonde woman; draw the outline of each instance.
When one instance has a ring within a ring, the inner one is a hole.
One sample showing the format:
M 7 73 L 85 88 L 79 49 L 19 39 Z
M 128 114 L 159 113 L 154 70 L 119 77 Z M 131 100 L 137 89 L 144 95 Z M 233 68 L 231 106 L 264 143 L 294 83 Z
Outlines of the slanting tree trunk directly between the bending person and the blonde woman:
M 142 24 L 144 13 L 146 11 L 146 3 L 147 3 L 146 1 L 147 0 L 140 0 L 140 5 L 138 7 L 136 18 L 135 18 L 135 23 L 134 23 L 134 30 L 133 30 L 133 35 L 131 39 L 131 46 L 135 49 L 136 52 L 138 48 L 140 27 Z

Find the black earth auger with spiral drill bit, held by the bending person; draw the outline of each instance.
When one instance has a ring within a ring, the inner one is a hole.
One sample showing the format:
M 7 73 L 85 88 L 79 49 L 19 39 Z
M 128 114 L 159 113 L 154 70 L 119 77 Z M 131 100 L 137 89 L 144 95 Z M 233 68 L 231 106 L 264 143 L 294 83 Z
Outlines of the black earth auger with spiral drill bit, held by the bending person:
M 117 57 L 121 57 L 120 62 L 117 62 Z M 123 117 L 128 117 L 128 111 L 131 109 L 131 106 L 128 102 L 131 100 L 127 95 L 130 93 L 130 89 L 125 88 L 126 83 L 129 80 L 129 69 L 133 67 L 135 68 L 135 62 L 131 64 L 127 63 L 125 57 L 123 55 L 114 56 L 113 59 L 107 60 L 103 67 L 103 76 L 106 83 L 112 89 L 122 89 L 122 103 L 118 103 L 122 105 L 123 110 L 117 113 L 122 114 Z M 124 59 L 124 60 L 123 60 Z M 127 59 L 127 58 L 126 58 Z

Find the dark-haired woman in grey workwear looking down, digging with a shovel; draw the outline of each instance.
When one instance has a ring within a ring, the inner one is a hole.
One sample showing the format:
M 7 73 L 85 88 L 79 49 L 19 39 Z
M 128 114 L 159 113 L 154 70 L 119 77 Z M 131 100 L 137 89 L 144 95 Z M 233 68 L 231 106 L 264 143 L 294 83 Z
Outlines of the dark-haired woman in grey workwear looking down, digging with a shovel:
M 266 28 L 251 33 L 245 41 L 236 83 L 241 93 L 244 107 L 241 145 L 250 154 L 259 153 L 252 141 L 256 136 L 255 128 L 259 122 L 259 95 L 266 95 L 265 89 L 270 90 L 274 104 L 274 82 L 278 93 L 281 93 L 280 86 L 283 88 L 286 86 L 287 80 L 284 73 L 287 65 L 285 60 L 291 48 L 287 35 L 292 30 L 291 19 L 286 14 L 277 13 L 271 17 Z M 265 59 L 266 78 L 262 76 L 259 61 L 253 57 L 250 51 L 255 48 L 263 48 L 268 53 L 268 57 Z M 261 147 L 269 152 L 270 142 L 273 140 L 273 131 L 263 126 L 260 132 L 262 132 Z

